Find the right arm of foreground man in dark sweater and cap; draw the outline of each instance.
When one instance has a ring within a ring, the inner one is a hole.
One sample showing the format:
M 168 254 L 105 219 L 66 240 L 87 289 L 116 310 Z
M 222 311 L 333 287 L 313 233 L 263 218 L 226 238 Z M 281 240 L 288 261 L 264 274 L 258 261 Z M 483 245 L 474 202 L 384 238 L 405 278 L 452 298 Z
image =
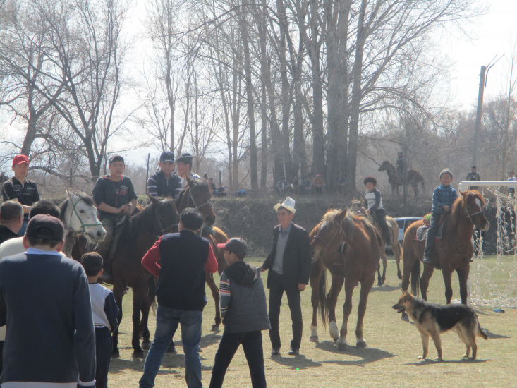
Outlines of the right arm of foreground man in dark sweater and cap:
M 95 385 L 95 330 L 88 280 L 82 267 L 78 269 L 73 289 L 75 358 L 79 369 L 78 385 Z

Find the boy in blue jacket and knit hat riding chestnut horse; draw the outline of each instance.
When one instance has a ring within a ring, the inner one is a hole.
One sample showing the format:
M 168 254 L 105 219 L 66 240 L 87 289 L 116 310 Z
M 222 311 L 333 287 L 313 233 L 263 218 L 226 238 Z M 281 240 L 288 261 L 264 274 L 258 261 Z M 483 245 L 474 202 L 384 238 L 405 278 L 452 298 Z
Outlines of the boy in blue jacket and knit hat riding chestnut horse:
M 444 169 L 440 173 L 440 182 L 442 186 L 438 186 L 432 193 L 432 215 L 427 231 L 427 240 L 425 241 L 424 260 L 426 264 L 433 265 L 431 260 L 432 248 L 434 248 L 434 237 L 438 230 L 440 218 L 446 212 L 451 211 L 452 204 L 458 198 L 458 192 L 451 186 L 452 172 Z

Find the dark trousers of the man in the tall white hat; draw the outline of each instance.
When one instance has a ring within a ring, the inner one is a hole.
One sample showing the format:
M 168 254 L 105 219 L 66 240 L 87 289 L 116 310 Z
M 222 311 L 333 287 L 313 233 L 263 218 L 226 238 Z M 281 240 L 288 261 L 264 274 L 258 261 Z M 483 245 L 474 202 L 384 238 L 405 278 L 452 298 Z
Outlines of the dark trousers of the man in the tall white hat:
M 302 308 L 300 305 L 300 291 L 296 289 L 284 289 L 283 275 L 269 269 L 269 339 L 271 339 L 271 346 L 273 348 L 280 348 L 280 333 L 279 333 L 279 317 L 280 306 L 282 305 L 282 296 L 284 291 L 287 295 L 287 303 L 289 310 L 291 310 L 291 320 L 293 321 L 293 340 L 291 341 L 291 348 L 299 349 L 302 342 Z

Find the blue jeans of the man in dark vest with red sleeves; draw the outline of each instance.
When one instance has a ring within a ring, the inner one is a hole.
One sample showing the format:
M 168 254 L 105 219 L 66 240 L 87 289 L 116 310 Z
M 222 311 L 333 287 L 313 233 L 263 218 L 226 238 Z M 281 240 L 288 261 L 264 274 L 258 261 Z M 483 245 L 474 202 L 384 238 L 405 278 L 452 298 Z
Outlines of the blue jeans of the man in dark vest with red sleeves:
M 185 380 L 188 388 L 202 388 L 199 344 L 201 340 L 202 311 L 177 310 L 158 305 L 154 341 L 145 358 L 140 388 L 154 387 L 164 354 L 181 324 L 181 341 L 185 353 Z

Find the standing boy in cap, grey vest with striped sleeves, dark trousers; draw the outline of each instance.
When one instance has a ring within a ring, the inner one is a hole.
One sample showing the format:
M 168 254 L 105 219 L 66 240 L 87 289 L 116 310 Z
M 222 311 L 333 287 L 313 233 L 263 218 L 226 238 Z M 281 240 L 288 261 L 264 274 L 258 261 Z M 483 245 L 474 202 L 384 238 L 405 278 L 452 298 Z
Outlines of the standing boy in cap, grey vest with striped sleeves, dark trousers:
M 270 329 L 266 294 L 260 270 L 243 262 L 247 245 L 242 238 L 218 244 L 229 265 L 221 274 L 221 317 L 224 333 L 215 355 L 210 388 L 222 387 L 226 369 L 239 345 L 250 368 L 253 388 L 266 387 L 262 330 Z

